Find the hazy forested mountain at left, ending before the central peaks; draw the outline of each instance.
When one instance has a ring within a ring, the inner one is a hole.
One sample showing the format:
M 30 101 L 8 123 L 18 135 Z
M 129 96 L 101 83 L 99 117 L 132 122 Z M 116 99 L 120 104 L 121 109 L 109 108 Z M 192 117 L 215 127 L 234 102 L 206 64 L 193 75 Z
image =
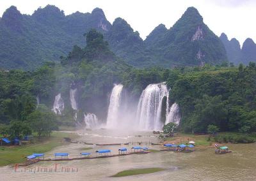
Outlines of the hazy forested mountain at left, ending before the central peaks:
M 108 31 L 111 24 L 102 10 L 65 16 L 55 6 L 22 15 L 11 6 L 0 19 L 0 67 L 35 69 L 46 61 L 60 61 L 73 45 L 84 45 L 90 29 Z

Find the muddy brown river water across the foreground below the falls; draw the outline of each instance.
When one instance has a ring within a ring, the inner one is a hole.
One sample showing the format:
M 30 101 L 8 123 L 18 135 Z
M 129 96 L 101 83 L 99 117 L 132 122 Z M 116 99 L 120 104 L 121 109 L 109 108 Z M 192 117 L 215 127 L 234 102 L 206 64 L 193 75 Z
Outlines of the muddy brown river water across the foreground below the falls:
M 151 133 L 116 133 L 115 131 L 99 130 L 79 133 L 79 141 L 88 143 L 127 143 L 132 141 L 157 142 Z M 140 136 L 138 136 L 140 135 Z M 81 148 L 92 147 L 81 151 Z M 131 145 L 122 145 L 131 150 Z M 160 149 L 159 146 L 147 146 Z M 27 168 L 34 172 L 18 168 L 15 172 L 10 166 L 0 168 L 0 180 L 256 180 L 256 144 L 228 145 L 233 152 L 215 155 L 214 149 L 205 148 L 195 152 L 175 153 L 157 152 L 144 155 L 109 157 L 104 159 L 40 162 Z M 55 152 L 68 152 L 70 157 L 79 156 L 80 152 L 92 152 L 101 148 L 109 148 L 113 154 L 120 146 L 96 146 L 71 143 L 47 152 L 45 157 L 53 157 Z M 56 166 L 57 164 L 57 166 Z M 132 168 L 161 167 L 164 171 L 146 175 L 111 178 L 118 171 Z M 39 172 L 37 171 L 39 168 Z M 56 168 L 57 172 L 40 171 L 41 168 Z M 63 168 L 63 172 L 61 169 Z M 65 172 L 65 168 L 74 170 Z M 23 172 L 21 172 L 23 171 Z

